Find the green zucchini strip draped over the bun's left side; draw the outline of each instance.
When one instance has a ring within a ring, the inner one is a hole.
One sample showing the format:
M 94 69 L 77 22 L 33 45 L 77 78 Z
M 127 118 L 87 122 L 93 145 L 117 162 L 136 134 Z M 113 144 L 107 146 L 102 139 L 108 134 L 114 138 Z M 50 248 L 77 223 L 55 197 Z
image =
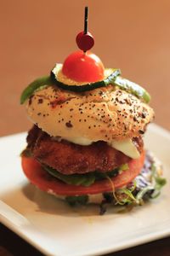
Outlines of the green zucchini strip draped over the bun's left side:
M 34 93 L 35 90 L 40 89 L 43 85 L 51 85 L 53 81 L 50 76 L 45 76 L 39 79 L 34 80 L 29 84 L 25 90 L 23 90 L 20 96 L 20 104 L 26 102 L 26 100 Z

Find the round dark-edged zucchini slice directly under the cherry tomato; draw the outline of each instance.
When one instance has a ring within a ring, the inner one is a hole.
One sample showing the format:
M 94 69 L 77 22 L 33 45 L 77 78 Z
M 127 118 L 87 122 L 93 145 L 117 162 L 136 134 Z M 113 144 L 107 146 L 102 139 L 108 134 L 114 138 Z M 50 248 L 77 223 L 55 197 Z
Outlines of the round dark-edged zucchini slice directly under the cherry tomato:
M 87 90 L 94 90 L 99 87 L 105 87 L 109 84 L 113 84 L 116 77 L 121 74 L 120 69 L 108 68 L 105 69 L 105 79 L 94 83 L 78 83 L 67 79 L 65 75 L 61 72 L 62 64 L 56 64 L 54 69 L 51 71 L 51 79 L 53 79 L 54 84 L 57 84 L 60 88 L 64 90 L 72 90 L 76 92 L 83 92 Z

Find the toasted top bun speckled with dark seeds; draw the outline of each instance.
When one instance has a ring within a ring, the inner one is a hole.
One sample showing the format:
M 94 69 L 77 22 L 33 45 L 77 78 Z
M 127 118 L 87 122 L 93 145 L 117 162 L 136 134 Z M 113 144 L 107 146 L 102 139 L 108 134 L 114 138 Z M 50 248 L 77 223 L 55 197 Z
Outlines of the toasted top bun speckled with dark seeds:
M 154 117 L 150 106 L 111 85 L 83 93 L 48 86 L 27 100 L 26 110 L 50 136 L 108 143 L 138 137 Z

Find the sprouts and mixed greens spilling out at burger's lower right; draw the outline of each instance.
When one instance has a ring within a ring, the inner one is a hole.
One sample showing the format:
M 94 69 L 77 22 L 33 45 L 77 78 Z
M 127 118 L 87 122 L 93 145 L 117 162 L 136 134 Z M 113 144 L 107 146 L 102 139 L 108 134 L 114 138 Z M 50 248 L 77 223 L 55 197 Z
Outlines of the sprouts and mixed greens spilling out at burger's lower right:
M 156 198 L 167 183 L 166 178 L 161 177 L 161 170 L 161 164 L 147 152 L 144 167 L 133 183 L 127 184 L 126 188 L 117 189 L 116 192 L 103 194 L 105 200 L 100 205 L 100 214 L 105 213 L 108 204 L 125 206 L 124 209 L 127 210 Z

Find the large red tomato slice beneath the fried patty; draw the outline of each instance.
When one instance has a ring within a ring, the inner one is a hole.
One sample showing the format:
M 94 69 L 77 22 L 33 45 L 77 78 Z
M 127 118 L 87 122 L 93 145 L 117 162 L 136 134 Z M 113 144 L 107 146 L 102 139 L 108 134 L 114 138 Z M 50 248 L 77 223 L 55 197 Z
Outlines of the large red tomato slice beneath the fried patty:
M 138 176 L 144 166 L 144 152 L 137 160 L 128 162 L 129 169 L 122 172 L 111 181 L 115 189 L 120 189 L 127 183 L 130 183 Z M 96 181 L 89 187 L 65 184 L 58 179 L 51 177 L 48 172 L 42 169 L 42 166 L 33 158 L 22 157 L 22 168 L 26 177 L 39 189 L 56 195 L 87 195 L 98 194 L 112 191 L 111 181 L 105 179 Z

